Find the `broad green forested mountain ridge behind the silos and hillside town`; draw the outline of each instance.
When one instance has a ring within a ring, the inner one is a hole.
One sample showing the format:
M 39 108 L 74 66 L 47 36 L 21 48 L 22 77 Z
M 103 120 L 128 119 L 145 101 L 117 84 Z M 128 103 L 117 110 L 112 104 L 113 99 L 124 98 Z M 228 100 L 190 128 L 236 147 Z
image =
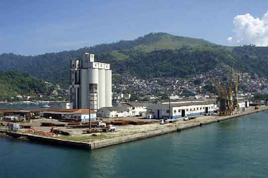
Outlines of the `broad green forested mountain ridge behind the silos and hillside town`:
M 69 61 L 85 52 L 94 53 L 96 61 L 111 63 L 115 73 L 140 77 L 184 77 L 206 72 L 221 64 L 268 76 L 268 47 L 226 47 L 167 33 L 150 33 L 135 40 L 39 56 L 2 54 L 0 70 L 23 71 L 67 86 Z

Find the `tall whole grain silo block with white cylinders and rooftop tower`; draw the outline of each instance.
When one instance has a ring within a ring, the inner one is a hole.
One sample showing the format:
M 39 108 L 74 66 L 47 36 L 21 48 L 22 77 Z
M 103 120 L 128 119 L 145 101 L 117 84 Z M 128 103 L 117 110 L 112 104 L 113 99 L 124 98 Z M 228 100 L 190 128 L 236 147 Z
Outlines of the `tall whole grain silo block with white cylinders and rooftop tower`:
M 110 64 L 95 62 L 85 53 L 82 60 L 71 60 L 69 94 L 74 109 L 112 107 L 112 70 Z

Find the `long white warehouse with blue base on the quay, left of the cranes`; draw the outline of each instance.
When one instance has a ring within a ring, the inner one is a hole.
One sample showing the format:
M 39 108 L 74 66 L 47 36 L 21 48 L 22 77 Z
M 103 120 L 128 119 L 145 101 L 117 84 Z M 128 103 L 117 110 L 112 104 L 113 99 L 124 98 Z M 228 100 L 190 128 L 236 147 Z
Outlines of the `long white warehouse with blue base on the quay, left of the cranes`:
M 187 102 L 171 104 L 155 104 L 147 107 L 147 118 L 178 119 L 185 116 L 209 115 L 214 113 L 216 105 L 205 102 Z

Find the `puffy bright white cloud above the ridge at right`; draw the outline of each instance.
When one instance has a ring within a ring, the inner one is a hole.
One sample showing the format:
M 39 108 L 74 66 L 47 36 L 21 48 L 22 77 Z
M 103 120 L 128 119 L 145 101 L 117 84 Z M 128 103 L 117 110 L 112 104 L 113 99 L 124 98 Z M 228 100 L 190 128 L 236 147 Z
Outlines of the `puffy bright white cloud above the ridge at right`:
M 237 15 L 233 23 L 235 36 L 228 37 L 227 41 L 240 45 L 268 46 L 268 12 L 261 19 L 249 13 Z

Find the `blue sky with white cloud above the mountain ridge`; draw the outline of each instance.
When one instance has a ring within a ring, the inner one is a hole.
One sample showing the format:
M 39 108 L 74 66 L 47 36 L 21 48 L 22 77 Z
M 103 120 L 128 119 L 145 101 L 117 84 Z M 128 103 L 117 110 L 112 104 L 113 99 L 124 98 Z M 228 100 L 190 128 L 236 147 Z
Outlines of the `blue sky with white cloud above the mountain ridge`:
M 0 0 L 0 54 L 40 55 L 167 32 L 268 46 L 268 0 Z

